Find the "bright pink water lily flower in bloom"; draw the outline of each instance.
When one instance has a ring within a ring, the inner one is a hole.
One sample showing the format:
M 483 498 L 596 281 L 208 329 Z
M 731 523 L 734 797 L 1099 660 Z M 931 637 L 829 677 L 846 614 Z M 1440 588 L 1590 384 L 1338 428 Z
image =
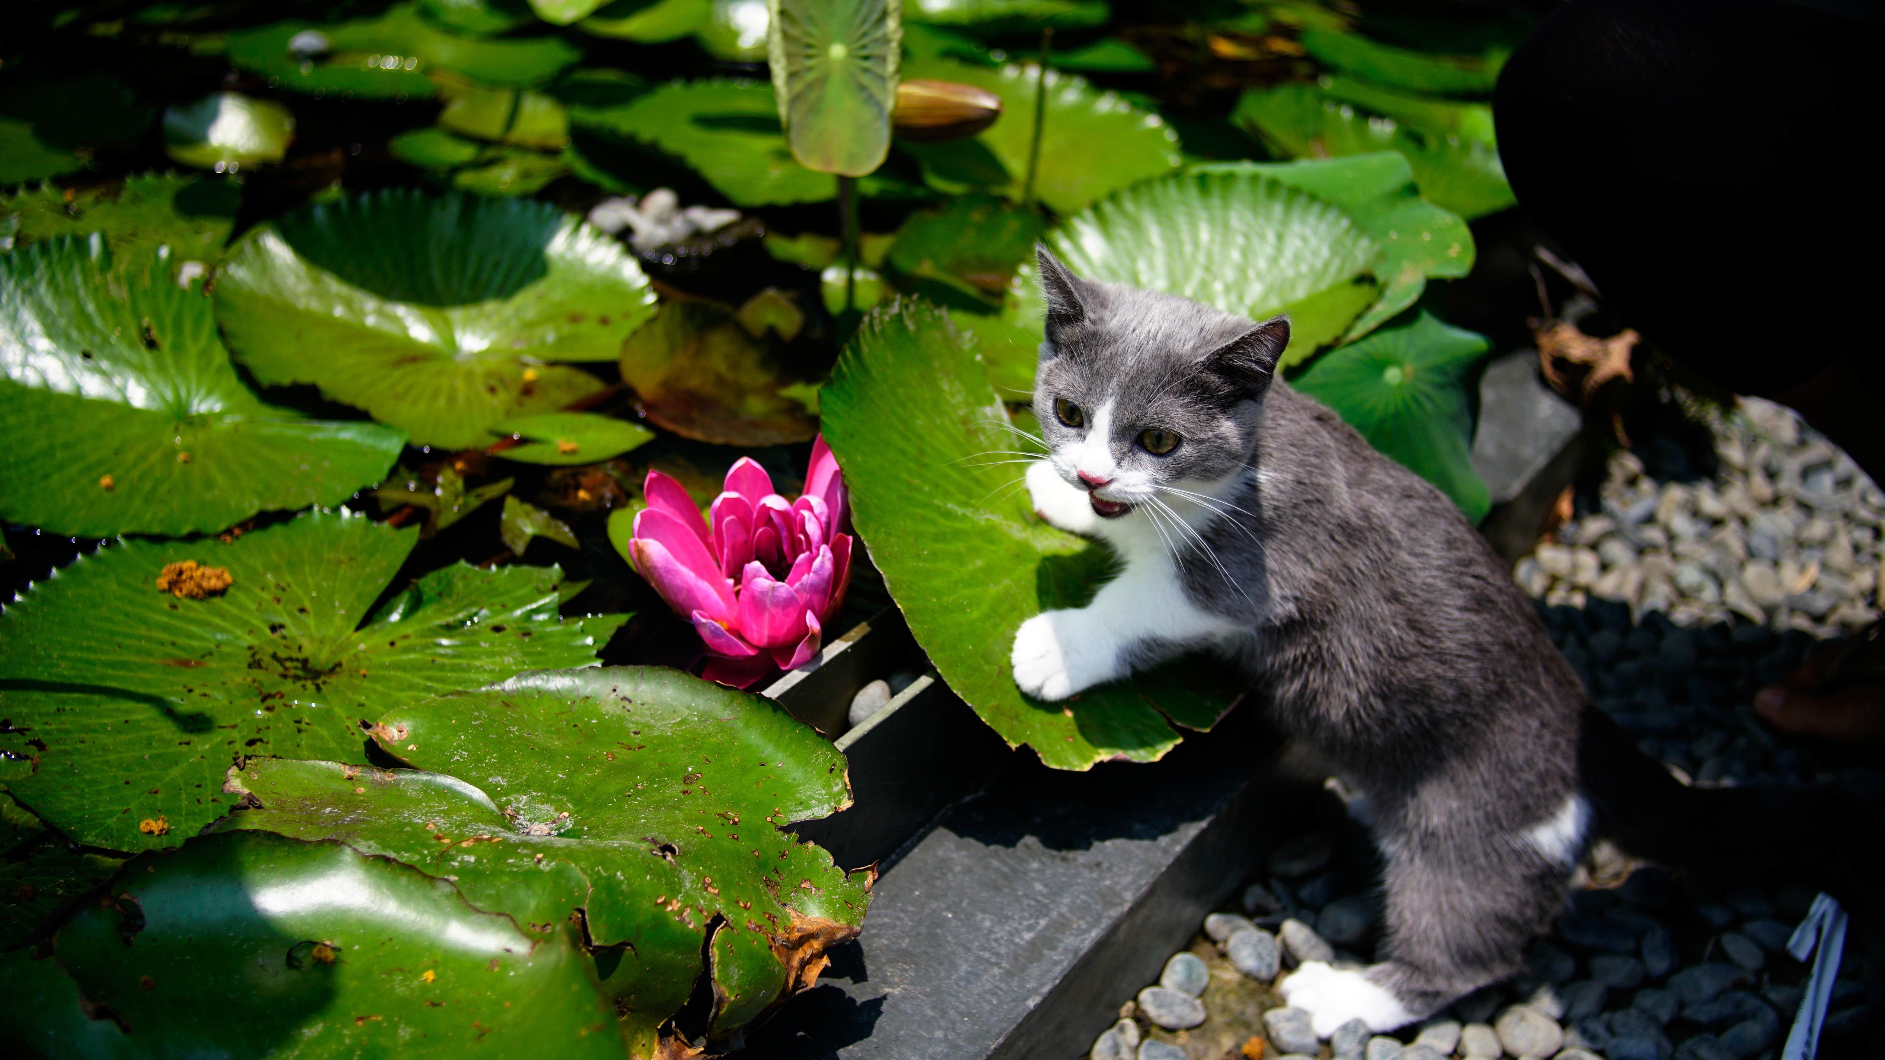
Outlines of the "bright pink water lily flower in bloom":
M 709 520 L 679 482 L 648 473 L 648 506 L 635 514 L 630 554 L 675 614 L 694 623 L 713 659 L 703 674 L 750 687 L 775 667 L 792 670 L 818 653 L 824 625 L 850 586 L 850 518 L 844 474 L 812 442 L 805 495 L 786 501 L 758 463 L 726 473 Z

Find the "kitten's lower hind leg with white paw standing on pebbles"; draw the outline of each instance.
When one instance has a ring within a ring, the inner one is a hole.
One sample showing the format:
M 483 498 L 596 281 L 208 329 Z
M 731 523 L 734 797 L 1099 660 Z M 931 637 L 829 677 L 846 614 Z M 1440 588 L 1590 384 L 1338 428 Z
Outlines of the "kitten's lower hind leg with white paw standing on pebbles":
M 1516 975 L 1525 943 L 1565 907 L 1576 851 L 1553 857 L 1563 851 L 1544 847 L 1557 838 L 1533 828 L 1387 843 L 1387 960 L 1357 970 L 1304 962 L 1278 992 L 1327 1037 L 1352 1019 L 1393 1030 Z

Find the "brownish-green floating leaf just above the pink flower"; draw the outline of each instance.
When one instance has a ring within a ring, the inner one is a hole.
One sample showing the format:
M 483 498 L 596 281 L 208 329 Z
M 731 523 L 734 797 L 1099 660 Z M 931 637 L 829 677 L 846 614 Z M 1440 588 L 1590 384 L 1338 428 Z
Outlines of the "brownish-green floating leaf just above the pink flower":
M 792 384 L 731 309 L 669 301 L 622 345 L 622 382 L 654 424 L 726 446 L 809 442 L 818 424 L 780 393 Z

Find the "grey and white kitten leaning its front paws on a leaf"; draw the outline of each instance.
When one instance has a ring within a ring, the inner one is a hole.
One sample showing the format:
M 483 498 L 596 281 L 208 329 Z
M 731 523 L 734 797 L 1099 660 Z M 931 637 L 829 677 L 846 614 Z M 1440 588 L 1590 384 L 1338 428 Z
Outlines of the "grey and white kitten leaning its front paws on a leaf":
M 1035 414 L 1052 454 L 1027 486 L 1120 570 L 1091 604 L 1020 627 L 1016 683 L 1061 700 L 1210 648 L 1363 793 L 1387 960 L 1306 962 L 1280 985 L 1320 1036 L 1352 1019 L 1391 1030 L 1519 972 L 1593 825 L 1642 840 L 1629 808 L 1687 789 L 1585 706 L 1453 503 L 1276 378 L 1286 318 L 1082 281 L 1044 249 L 1039 262 Z M 1680 813 L 1659 828 L 1681 845 Z

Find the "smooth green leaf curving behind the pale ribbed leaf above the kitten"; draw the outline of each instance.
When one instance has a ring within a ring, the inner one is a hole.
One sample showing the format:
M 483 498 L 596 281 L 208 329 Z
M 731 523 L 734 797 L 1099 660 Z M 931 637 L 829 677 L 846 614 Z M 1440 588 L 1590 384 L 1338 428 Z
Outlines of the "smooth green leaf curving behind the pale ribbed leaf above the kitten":
M 1465 218 L 1421 198 L 1404 154 L 1376 151 L 1321 162 L 1225 162 L 1195 173 L 1263 173 L 1340 207 L 1382 249 L 1374 275 L 1380 297 L 1350 324 L 1346 341 L 1359 339 L 1427 290 L 1427 279 L 1455 279 L 1472 271 L 1472 230 Z

